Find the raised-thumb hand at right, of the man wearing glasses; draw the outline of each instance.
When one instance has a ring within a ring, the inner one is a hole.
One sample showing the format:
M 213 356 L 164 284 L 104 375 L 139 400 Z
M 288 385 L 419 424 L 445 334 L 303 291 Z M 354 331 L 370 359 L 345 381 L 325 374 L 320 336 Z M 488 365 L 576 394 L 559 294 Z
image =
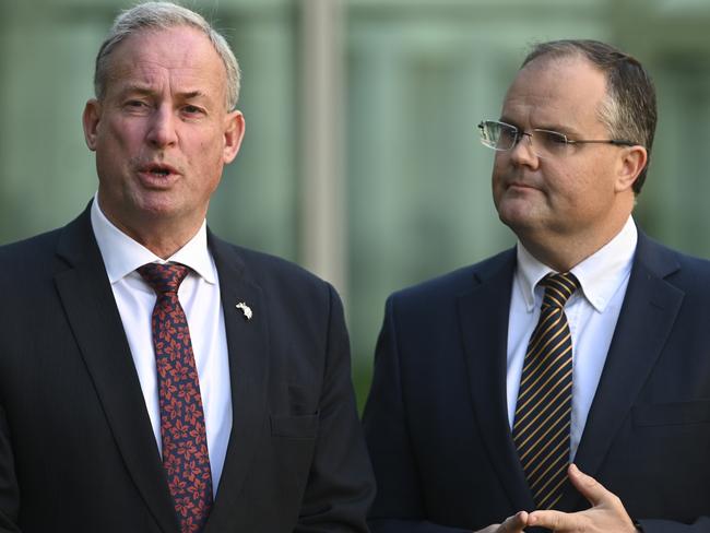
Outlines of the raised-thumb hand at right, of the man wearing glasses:
M 593 477 L 583 474 L 575 464 L 567 470 L 572 485 L 592 505 L 580 512 L 534 511 L 528 525 L 539 525 L 556 533 L 636 533 L 637 529 L 615 494 L 606 490 Z

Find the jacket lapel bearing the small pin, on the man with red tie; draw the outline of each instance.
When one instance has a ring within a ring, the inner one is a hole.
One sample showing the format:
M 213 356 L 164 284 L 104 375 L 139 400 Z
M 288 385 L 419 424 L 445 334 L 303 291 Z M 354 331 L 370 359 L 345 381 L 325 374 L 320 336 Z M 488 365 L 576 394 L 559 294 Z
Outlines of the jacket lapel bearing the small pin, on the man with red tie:
M 232 434 L 217 497 L 205 528 L 205 533 L 220 533 L 234 528 L 235 501 L 267 429 L 269 310 L 261 288 L 245 275 L 245 265 L 236 248 L 211 234 L 209 242 L 220 274 L 233 410 Z M 236 307 L 240 303 L 251 309 L 251 319 Z

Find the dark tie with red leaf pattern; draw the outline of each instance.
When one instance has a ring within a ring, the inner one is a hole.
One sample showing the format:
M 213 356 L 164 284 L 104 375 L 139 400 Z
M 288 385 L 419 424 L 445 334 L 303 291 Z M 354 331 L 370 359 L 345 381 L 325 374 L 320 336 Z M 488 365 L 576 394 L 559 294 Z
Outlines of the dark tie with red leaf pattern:
M 151 324 L 157 367 L 163 466 L 181 533 L 197 533 L 202 531 L 212 508 L 212 474 L 190 330 L 177 296 L 188 268 L 149 263 L 138 272 L 157 295 Z

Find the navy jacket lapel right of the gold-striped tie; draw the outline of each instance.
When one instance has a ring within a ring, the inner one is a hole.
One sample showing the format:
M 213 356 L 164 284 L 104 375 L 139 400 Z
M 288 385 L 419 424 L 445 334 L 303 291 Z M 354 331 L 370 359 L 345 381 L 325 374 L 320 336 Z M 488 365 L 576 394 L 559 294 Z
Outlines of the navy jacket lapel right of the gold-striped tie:
M 678 268 L 671 252 L 639 232 L 624 305 L 575 459 L 587 474 L 596 475 L 671 333 L 684 293 L 663 277 Z M 573 490 L 563 500 L 563 508 L 580 505 Z

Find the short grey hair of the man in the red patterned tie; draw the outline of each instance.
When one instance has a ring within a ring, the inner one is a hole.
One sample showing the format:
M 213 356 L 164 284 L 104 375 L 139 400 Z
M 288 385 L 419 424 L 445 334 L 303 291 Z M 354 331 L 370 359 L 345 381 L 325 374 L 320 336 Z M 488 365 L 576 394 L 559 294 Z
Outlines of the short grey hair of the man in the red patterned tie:
M 110 55 L 122 40 L 144 29 L 170 29 L 177 26 L 194 27 L 210 39 L 227 74 L 227 110 L 234 109 L 239 99 L 240 72 L 232 48 L 224 36 L 202 15 L 173 2 L 141 3 L 116 17 L 96 56 L 94 72 L 96 98 L 102 99 L 105 96 Z

